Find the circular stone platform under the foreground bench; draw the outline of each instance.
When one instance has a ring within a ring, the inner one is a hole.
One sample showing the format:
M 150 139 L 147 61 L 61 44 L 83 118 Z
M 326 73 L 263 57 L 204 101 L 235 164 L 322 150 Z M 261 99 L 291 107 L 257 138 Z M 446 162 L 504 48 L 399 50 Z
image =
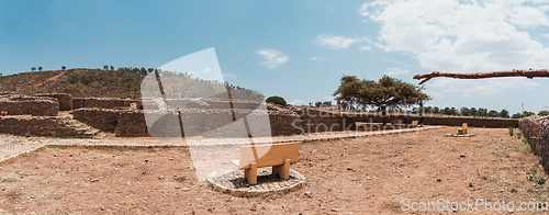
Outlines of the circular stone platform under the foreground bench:
M 239 197 L 291 192 L 301 189 L 305 184 L 305 177 L 298 171 L 290 170 L 290 179 L 288 180 L 272 176 L 271 172 L 272 168 L 258 169 L 256 185 L 249 185 L 244 179 L 244 170 L 237 170 L 236 168 L 212 172 L 208 176 L 208 182 L 216 191 Z

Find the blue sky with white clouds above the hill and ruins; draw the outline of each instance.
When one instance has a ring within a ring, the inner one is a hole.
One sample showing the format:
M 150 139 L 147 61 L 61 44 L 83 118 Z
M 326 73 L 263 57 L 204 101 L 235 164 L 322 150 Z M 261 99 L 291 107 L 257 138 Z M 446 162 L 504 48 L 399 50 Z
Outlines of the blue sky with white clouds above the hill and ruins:
M 214 47 L 226 81 L 302 104 L 343 75 L 549 68 L 547 0 L 5 1 L 0 72 L 160 67 Z M 428 105 L 548 109 L 548 79 L 434 79 Z

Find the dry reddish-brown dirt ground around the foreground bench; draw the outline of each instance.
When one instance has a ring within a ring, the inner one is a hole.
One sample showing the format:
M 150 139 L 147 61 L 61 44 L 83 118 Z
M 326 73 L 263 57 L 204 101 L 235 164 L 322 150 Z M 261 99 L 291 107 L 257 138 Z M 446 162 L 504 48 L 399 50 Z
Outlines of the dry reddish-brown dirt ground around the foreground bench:
M 428 213 L 482 199 L 493 205 L 477 213 L 497 214 L 509 202 L 523 213 L 520 202 L 535 210 L 549 201 L 547 174 L 517 129 L 444 136 L 455 132 L 305 143 L 292 165 L 304 188 L 248 199 L 199 182 L 184 148 L 44 147 L 0 163 L 0 214 L 423 214 L 412 210 L 437 199 L 450 205 L 432 203 Z

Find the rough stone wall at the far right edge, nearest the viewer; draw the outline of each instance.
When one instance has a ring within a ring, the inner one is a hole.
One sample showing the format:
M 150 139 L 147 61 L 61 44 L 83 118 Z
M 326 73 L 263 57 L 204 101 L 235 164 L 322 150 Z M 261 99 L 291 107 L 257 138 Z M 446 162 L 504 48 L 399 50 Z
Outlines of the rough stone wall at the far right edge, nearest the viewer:
M 534 155 L 540 157 L 540 163 L 549 171 L 549 118 L 529 116 L 520 118 L 519 128 L 528 140 Z

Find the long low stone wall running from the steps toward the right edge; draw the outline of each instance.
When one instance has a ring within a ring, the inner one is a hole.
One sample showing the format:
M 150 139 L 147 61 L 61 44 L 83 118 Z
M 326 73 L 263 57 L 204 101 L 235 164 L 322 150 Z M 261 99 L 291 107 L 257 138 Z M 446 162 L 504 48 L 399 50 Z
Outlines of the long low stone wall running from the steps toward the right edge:
M 244 123 L 233 123 L 232 111 L 227 109 L 183 109 L 177 111 L 160 110 L 113 110 L 86 108 L 75 110 L 75 118 L 87 123 L 96 128 L 105 132 L 114 132 L 120 137 L 141 137 L 154 136 L 178 137 L 181 134 L 188 136 L 202 135 L 204 137 L 246 137 L 246 127 Z M 265 131 L 269 127 L 261 127 L 267 123 L 260 122 L 266 118 L 266 112 L 253 112 L 251 110 L 235 110 L 237 122 L 243 122 L 246 116 L 254 136 L 266 136 Z M 145 117 L 157 118 L 147 129 Z M 181 117 L 181 122 L 179 121 Z M 257 118 L 255 118 L 257 117 Z M 376 114 L 338 114 L 322 112 L 313 109 L 298 109 L 294 111 L 270 109 L 268 111 L 270 131 L 273 136 L 279 135 L 300 135 L 318 132 L 340 132 L 359 129 L 355 126 L 356 122 L 381 123 L 382 117 Z M 385 122 L 393 118 L 404 120 L 404 115 L 389 115 Z M 411 121 L 418 121 L 419 116 L 410 116 Z M 426 125 L 448 125 L 461 126 L 468 123 L 472 127 L 515 127 L 517 120 L 509 118 L 488 118 L 488 117 L 435 117 L 425 116 Z M 181 127 L 180 124 L 183 126 Z M 224 126 L 224 134 L 220 134 L 220 128 Z M 183 132 L 182 132 L 183 131 Z

